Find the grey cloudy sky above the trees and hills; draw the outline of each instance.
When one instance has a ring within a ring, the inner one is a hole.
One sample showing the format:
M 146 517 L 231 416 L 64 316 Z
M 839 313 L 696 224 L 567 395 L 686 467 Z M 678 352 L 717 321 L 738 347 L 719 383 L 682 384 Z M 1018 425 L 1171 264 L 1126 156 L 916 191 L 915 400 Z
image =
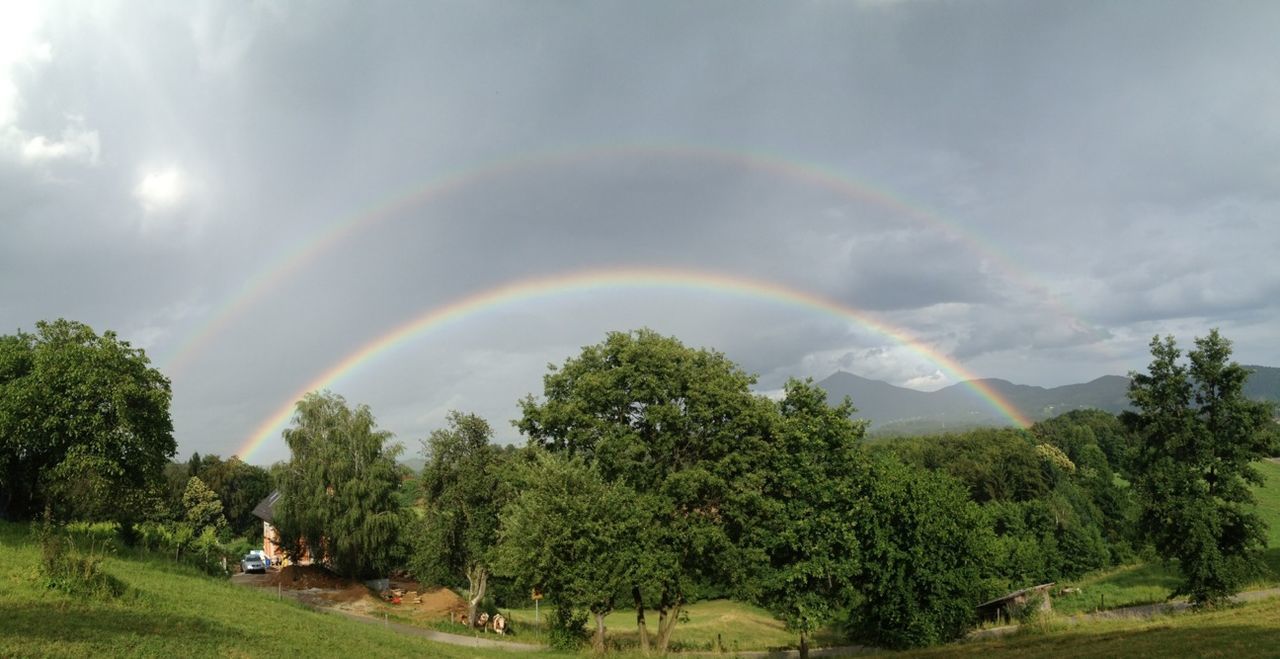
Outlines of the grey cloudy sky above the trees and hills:
M 256 463 L 316 383 L 410 457 L 449 409 L 518 441 L 549 363 L 636 328 L 765 393 L 1070 384 L 1212 328 L 1280 365 L 1277 26 L 1270 1 L 3 0 L 0 333 L 116 331 L 172 380 L 179 457 L 262 436 Z M 539 284 L 620 269 L 689 282 Z

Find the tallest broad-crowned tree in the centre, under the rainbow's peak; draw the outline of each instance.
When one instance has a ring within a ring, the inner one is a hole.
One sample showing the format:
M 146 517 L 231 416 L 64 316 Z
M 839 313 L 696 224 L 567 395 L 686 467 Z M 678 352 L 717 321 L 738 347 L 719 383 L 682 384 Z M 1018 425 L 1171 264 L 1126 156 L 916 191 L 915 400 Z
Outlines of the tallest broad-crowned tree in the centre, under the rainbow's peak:
M 646 604 L 658 609 L 664 651 L 691 585 L 732 563 L 722 511 L 753 468 L 769 415 L 754 381 L 718 352 L 652 330 L 611 333 L 553 367 L 541 402 L 521 404 L 517 427 L 531 444 L 581 457 L 660 511 L 637 537 L 653 557 L 632 589 L 645 650 Z

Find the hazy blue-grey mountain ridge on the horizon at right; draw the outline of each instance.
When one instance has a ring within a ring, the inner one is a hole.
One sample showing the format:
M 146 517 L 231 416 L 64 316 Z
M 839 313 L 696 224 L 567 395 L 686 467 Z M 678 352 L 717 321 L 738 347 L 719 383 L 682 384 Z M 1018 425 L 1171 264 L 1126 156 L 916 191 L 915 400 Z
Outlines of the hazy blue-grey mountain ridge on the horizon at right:
M 1249 398 L 1280 402 L 1280 369 L 1245 366 L 1253 374 L 1244 386 Z M 1062 386 L 1030 386 L 1007 380 L 979 380 L 1000 394 L 1014 408 L 1032 420 L 1057 416 L 1071 409 L 1102 409 L 1119 413 L 1129 406 L 1129 379 L 1103 375 L 1096 380 Z M 977 426 L 1007 425 L 991 404 L 968 383 L 954 384 L 937 392 L 916 392 L 892 384 L 837 371 L 818 383 L 831 402 L 846 395 L 858 412 L 855 418 L 872 421 L 878 435 L 906 435 L 964 430 Z

